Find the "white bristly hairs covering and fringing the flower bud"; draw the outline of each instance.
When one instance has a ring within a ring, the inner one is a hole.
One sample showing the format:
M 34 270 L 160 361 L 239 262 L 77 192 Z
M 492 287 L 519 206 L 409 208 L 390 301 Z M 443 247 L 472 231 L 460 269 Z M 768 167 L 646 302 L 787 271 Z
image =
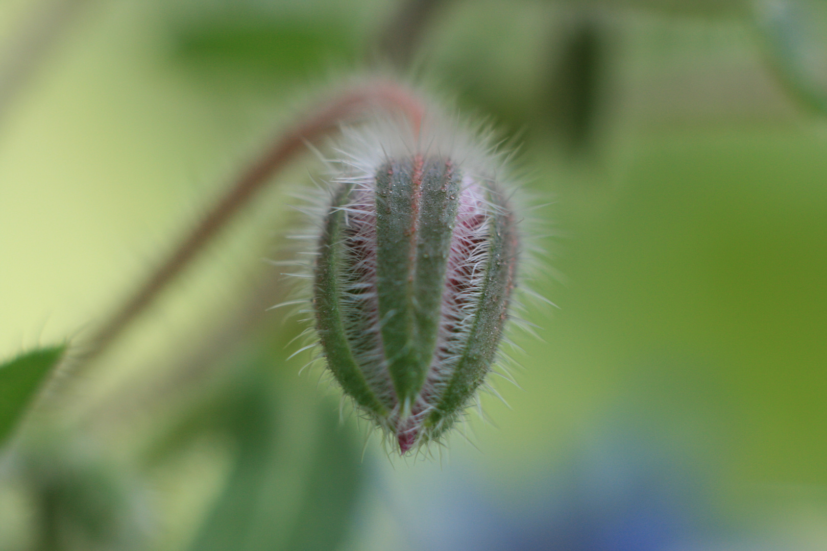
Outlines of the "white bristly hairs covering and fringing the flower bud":
M 502 207 L 490 202 L 489 192 L 508 196 L 513 201 L 514 184 L 506 172 L 506 155 L 497 151 L 492 133 L 482 126 L 470 127 L 459 121 L 458 116 L 447 116 L 439 109 L 433 109 L 423 120 L 417 132 L 408 121 L 392 116 L 377 116 L 374 120 L 359 125 L 343 126 L 342 136 L 336 140 L 330 151 L 323 157 L 330 174 L 323 183 L 317 183 L 314 190 L 301 197 L 312 230 L 295 235 L 294 239 L 304 241 L 308 248 L 297 254 L 304 258 L 303 284 L 297 286 L 297 298 L 280 306 L 304 306 L 301 312 L 312 312 L 310 289 L 306 277 L 313 273 L 313 262 L 318 256 L 318 228 L 323 217 L 330 211 L 332 196 L 342 186 L 351 188 L 350 201 L 338 207 L 344 213 L 347 247 L 346 261 L 341 270 L 342 318 L 348 340 L 356 362 L 367 384 L 374 390 L 378 400 L 385 405 L 390 415 L 382 417 L 373 411 L 364 411 L 374 420 L 390 439 L 405 430 L 414 431 L 414 446 L 430 441 L 432 435 L 442 432 L 442 426 L 422 430 L 423 420 L 433 411 L 438 397 L 442 395 L 454 368 L 461 359 L 463 345 L 471 332 L 471 324 L 480 299 L 481 283 L 489 259 L 490 231 L 493 215 Z M 392 159 L 412 158 L 414 155 L 437 156 L 450 159 L 453 167 L 461 173 L 461 190 L 457 220 L 450 254 L 447 259 L 447 275 L 442 292 L 442 312 L 439 323 L 437 346 L 426 380 L 418 398 L 413 404 L 400 404 L 385 362 L 382 349 L 376 278 L 376 223 L 375 187 L 377 169 Z M 321 154 L 320 154 L 321 155 Z M 520 221 L 522 223 L 523 221 Z M 519 235 L 519 242 L 525 243 L 525 235 Z M 524 250 L 519 250 L 523 254 Z M 530 251 L 529 251 L 530 254 Z M 524 265 L 521 261 L 521 265 Z M 524 292 L 523 273 L 519 273 L 519 290 Z M 540 297 L 543 301 L 545 298 Z M 510 298 L 510 311 L 519 302 Z M 312 321 L 311 321 L 312 322 Z M 530 324 L 523 326 L 533 332 Z M 349 328 L 349 329 L 348 329 Z M 308 326 L 299 335 L 299 350 L 313 348 L 318 343 L 314 327 Z M 504 339 L 504 342 L 508 342 Z M 310 363 L 323 358 L 320 348 Z M 504 373 L 504 378 L 513 382 L 504 363 L 513 362 L 501 351 L 495 359 L 495 366 Z M 309 363 L 308 363 L 309 365 Z M 307 366 L 305 366 L 307 367 Z M 303 368 L 304 369 L 304 368 Z M 494 366 L 492 366 L 492 370 Z M 485 382 L 484 389 L 499 394 Z M 478 399 L 477 399 L 478 400 Z M 473 403 L 468 406 L 472 406 Z M 442 420 L 450 425 L 462 420 L 461 412 Z

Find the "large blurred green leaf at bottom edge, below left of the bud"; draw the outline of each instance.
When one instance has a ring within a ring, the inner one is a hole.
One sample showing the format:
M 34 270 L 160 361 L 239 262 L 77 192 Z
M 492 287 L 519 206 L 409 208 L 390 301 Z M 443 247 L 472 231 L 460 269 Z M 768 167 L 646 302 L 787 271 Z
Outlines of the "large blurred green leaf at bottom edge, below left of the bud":
M 246 373 L 227 395 L 233 399 L 209 415 L 237 444 L 237 459 L 190 549 L 336 549 L 360 486 L 359 451 L 352 435 L 338 426 L 331 407 L 319 411 L 313 445 L 300 472 L 294 473 L 284 454 L 289 442 L 282 441 L 284 430 L 293 427 L 280 418 L 272 382 L 261 373 Z M 299 484 L 289 487 L 300 495 L 285 493 L 285 477 L 297 476 Z M 288 510 L 289 519 L 283 518 L 285 501 L 296 504 Z

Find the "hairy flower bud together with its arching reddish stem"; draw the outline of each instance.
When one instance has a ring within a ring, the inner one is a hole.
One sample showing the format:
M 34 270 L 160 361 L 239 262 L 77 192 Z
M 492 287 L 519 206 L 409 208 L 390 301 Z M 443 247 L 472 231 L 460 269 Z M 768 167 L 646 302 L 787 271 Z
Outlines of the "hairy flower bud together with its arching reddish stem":
M 284 132 L 62 366 L 64 378 L 108 349 L 306 143 L 337 132 L 308 235 L 320 357 L 400 453 L 451 427 L 484 384 L 509 319 L 514 190 L 485 132 L 384 79 L 345 88 Z

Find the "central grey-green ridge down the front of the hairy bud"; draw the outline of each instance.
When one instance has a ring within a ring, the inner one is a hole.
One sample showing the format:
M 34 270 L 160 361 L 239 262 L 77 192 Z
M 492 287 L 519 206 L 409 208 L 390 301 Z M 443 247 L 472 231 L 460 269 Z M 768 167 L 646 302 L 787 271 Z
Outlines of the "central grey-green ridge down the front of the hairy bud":
M 416 155 L 376 173 L 381 335 L 403 409 L 414 406 L 436 349 L 458 198 L 459 178 L 444 159 Z

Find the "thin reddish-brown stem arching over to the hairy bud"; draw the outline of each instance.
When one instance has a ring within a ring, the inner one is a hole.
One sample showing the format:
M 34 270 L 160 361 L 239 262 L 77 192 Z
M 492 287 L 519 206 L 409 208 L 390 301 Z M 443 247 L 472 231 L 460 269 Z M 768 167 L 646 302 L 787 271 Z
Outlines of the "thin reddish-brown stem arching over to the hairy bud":
M 108 349 L 127 326 L 187 267 L 204 245 L 227 226 L 232 216 L 249 203 L 275 173 L 284 169 L 296 154 L 304 150 L 308 141 L 317 141 L 334 130 L 347 116 L 375 106 L 390 107 L 402 112 L 409 119 L 415 133 L 422 124 L 424 109 L 418 97 L 408 88 L 391 81 L 374 81 L 347 89 L 310 111 L 291 129 L 281 134 L 250 169 L 241 173 L 241 177 L 229 186 L 207 216 L 180 242 L 146 283 L 93 335 L 83 356 L 84 363 Z

